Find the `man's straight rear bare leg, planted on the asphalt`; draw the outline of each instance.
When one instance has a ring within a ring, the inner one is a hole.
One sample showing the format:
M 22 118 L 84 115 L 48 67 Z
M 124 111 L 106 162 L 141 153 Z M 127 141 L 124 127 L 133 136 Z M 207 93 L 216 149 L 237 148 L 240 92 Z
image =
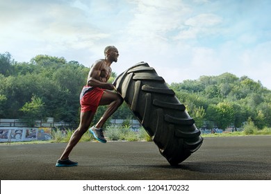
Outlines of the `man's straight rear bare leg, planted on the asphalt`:
M 69 157 L 69 153 L 72 152 L 74 146 L 79 142 L 83 134 L 88 130 L 88 127 L 90 127 L 94 115 L 95 112 L 92 111 L 81 112 L 80 125 L 72 134 L 71 139 L 69 139 L 69 143 L 67 144 L 63 155 L 60 157 L 61 160 L 67 159 Z

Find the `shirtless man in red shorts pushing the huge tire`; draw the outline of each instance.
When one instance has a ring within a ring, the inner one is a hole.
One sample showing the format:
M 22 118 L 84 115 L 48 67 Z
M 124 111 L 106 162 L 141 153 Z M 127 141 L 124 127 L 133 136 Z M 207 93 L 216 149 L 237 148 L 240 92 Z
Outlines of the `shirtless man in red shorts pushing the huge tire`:
M 103 134 L 103 125 L 106 120 L 117 110 L 123 103 L 122 96 L 113 91 L 114 86 L 108 83 L 112 69 L 110 65 L 113 62 L 117 62 L 119 52 L 115 46 L 106 46 L 104 49 L 104 60 L 97 60 L 88 73 L 87 85 L 83 87 L 80 95 L 81 115 L 79 127 L 72 134 L 69 143 L 65 148 L 60 159 L 56 162 L 57 167 L 63 166 L 77 166 L 76 161 L 69 160 L 69 153 L 72 152 L 74 146 L 79 142 L 83 134 L 88 130 L 92 119 L 95 116 L 95 112 L 99 105 L 108 105 L 106 112 L 101 116 L 98 123 L 90 127 L 89 131 L 95 136 L 95 138 L 106 143 L 106 139 Z

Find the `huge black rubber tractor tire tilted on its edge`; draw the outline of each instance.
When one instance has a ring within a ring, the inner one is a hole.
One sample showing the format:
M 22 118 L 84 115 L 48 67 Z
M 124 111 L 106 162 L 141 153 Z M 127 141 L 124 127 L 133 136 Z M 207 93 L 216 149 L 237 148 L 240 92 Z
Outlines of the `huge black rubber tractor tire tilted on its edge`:
M 113 85 L 170 165 L 178 165 L 202 145 L 194 119 L 149 64 L 127 69 Z

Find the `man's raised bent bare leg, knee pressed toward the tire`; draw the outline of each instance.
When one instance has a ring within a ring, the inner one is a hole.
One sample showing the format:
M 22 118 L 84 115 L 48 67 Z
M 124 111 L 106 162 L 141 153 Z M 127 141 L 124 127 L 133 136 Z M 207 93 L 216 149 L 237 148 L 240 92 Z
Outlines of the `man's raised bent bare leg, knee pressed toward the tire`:
M 100 120 L 96 124 L 97 128 L 103 127 L 107 119 L 117 110 L 123 103 L 123 98 L 120 94 L 116 94 L 113 91 L 105 90 L 103 96 L 101 97 L 99 105 L 108 105 L 106 112 L 101 116 Z

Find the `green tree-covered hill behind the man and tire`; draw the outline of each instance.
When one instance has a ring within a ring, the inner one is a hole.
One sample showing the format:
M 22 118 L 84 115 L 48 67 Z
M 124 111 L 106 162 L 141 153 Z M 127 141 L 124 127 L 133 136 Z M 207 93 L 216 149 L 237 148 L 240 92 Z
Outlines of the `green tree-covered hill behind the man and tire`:
M 54 117 L 55 121 L 79 123 L 79 94 L 88 71 L 65 58 L 37 55 L 30 62 L 16 62 L 10 53 L 0 53 L 0 118 Z M 113 73 L 110 82 L 116 76 Z M 248 119 L 259 129 L 271 125 L 271 91 L 247 76 L 201 76 L 169 87 L 199 128 L 240 127 Z M 95 121 L 104 109 L 99 107 Z M 125 104 L 113 115 L 132 117 Z

